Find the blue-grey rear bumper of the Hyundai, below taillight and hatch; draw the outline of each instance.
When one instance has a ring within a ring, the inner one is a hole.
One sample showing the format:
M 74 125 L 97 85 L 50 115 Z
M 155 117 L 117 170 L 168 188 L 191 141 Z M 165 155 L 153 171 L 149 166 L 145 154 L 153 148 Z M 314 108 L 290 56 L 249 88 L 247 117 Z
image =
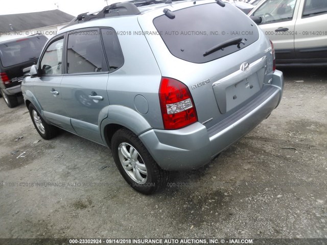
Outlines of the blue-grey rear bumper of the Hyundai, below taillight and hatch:
M 271 85 L 246 107 L 207 130 L 200 122 L 179 130 L 150 130 L 139 138 L 165 170 L 196 169 L 260 124 L 282 98 L 284 78 L 276 70 Z

